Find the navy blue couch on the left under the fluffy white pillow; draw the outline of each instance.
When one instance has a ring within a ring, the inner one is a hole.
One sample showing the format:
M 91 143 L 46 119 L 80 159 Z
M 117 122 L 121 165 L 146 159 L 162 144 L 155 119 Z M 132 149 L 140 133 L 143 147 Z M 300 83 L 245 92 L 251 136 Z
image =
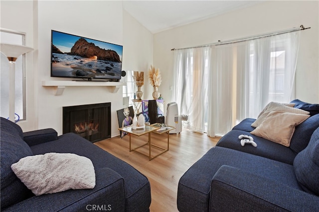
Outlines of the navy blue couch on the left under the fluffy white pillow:
M 53 129 L 23 133 L 18 125 L 3 118 L 0 124 L 1 212 L 149 211 L 149 180 L 121 159 L 73 133 L 57 136 Z M 96 186 L 34 196 L 10 167 L 22 157 L 47 152 L 90 158 Z

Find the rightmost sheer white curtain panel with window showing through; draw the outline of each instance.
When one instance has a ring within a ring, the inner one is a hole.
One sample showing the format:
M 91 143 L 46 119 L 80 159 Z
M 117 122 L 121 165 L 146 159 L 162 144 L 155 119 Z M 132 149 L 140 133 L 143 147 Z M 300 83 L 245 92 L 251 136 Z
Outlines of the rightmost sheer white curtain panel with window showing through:
M 300 31 L 260 38 L 248 43 L 249 114 L 256 118 L 271 101 L 287 103 L 295 97 L 295 72 Z M 246 94 L 247 96 L 247 94 Z

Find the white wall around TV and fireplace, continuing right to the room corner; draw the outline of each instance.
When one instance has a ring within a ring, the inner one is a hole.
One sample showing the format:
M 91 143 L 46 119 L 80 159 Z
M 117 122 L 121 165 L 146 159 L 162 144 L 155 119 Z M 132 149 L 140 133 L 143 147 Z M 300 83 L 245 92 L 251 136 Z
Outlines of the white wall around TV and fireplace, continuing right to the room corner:
M 57 79 L 50 77 L 51 29 L 123 45 L 123 70 L 142 71 L 153 62 L 153 35 L 123 13 L 122 1 L 39 1 L 38 4 L 40 80 Z M 53 127 L 62 133 L 63 106 L 111 102 L 111 136 L 119 135 L 116 111 L 123 108 L 122 88 L 111 93 L 108 87 L 66 87 L 63 95 L 55 96 L 52 88 L 40 84 L 38 87 L 39 127 Z

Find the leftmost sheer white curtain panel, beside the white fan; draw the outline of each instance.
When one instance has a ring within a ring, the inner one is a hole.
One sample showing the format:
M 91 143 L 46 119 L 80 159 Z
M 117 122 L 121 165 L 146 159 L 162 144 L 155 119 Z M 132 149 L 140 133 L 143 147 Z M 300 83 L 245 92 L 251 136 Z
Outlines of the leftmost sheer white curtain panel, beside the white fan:
M 209 47 L 174 51 L 172 99 L 179 114 L 188 115 L 185 127 L 196 132 L 207 125 L 209 59 Z

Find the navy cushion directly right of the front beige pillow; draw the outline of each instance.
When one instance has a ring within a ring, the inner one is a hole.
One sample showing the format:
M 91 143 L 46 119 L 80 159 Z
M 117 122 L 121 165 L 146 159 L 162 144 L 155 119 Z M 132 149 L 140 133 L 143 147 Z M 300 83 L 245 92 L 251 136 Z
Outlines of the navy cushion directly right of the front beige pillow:
M 309 117 L 306 121 L 296 126 L 296 130 L 291 138 L 289 147 L 295 151 L 296 154 L 304 150 L 317 128 L 319 128 L 319 114 Z

